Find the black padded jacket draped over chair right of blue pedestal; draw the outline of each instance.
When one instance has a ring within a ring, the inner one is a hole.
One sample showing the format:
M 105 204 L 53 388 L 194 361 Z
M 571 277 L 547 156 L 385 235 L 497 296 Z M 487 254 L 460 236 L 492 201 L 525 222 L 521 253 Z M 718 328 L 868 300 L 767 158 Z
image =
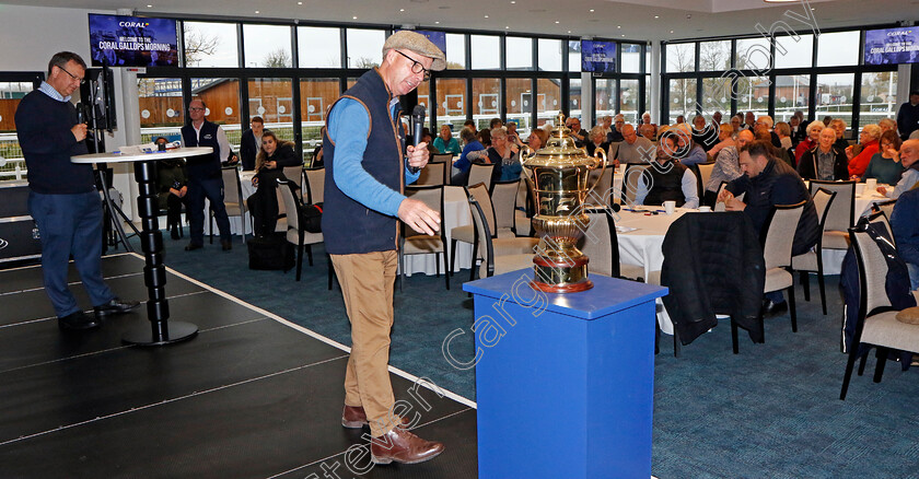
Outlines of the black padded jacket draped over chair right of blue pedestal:
M 663 253 L 661 284 L 670 288 L 663 302 L 683 344 L 717 326 L 716 314 L 730 315 L 763 342 L 766 264 L 746 214 L 686 213 L 667 230 Z

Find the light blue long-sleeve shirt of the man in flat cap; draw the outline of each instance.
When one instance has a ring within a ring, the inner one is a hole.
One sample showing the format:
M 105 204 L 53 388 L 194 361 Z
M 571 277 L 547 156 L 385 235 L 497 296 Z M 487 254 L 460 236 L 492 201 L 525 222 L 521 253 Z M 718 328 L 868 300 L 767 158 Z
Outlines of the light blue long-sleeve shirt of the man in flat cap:
M 398 102 L 389 105 L 389 115 L 398 121 Z M 367 109 L 352 98 L 341 98 L 329 114 L 328 136 L 335 142 L 335 185 L 349 198 L 359 203 L 392 217 L 397 215 L 404 195 L 380 183 L 362 166 L 370 135 L 370 116 Z M 405 183 L 415 183 L 420 173 L 411 173 L 406 166 Z

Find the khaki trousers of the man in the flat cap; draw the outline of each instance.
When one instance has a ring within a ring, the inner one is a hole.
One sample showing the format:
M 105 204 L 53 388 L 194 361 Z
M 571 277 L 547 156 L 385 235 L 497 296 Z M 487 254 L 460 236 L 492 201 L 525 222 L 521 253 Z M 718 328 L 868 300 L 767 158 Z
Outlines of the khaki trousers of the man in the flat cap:
M 379 437 L 397 423 L 388 365 L 398 254 L 389 250 L 331 255 L 331 264 L 351 322 L 345 405 L 362 406 L 371 434 Z

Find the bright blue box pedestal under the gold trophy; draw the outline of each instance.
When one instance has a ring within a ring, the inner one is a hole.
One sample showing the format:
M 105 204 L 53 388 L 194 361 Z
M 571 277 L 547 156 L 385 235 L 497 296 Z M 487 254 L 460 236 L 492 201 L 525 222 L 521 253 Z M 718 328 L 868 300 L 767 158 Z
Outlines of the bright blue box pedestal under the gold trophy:
M 654 300 L 666 288 L 592 276 L 534 291 L 532 270 L 475 295 L 480 479 L 651 477 Z

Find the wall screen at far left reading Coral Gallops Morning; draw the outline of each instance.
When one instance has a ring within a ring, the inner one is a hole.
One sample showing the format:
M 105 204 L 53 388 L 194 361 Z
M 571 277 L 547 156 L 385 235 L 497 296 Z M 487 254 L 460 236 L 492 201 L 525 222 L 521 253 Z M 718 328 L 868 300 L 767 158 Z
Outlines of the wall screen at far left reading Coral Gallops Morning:
M 90 13 L 93 67 L 178 67 L 175 20 Z

